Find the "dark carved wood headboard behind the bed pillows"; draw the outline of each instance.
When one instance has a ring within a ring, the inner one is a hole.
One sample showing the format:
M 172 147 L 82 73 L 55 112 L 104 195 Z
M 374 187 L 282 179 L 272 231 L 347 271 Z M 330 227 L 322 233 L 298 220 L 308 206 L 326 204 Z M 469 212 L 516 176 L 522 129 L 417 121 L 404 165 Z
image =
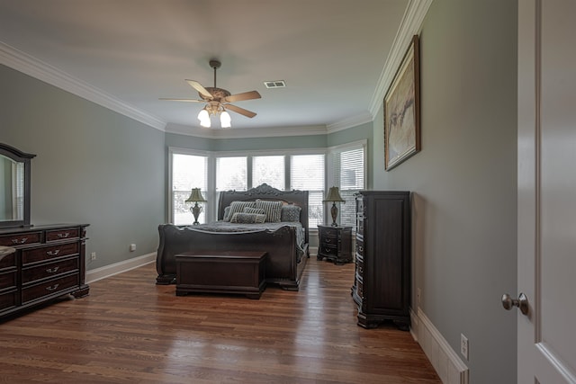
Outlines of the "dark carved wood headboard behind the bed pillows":
M 256 188 L 247 191 L 223 191 L 218 198 L 218 219 L 224 218 L 224 209 L 232 201 L 256 201 L 261 200 L 281 200 L 302 208 L 300 211 L 300 222 L 306 230 L 306 243 L 309 243 L 308 228 L 308 191 L 280 191 L 268 184 L 258 185 Z

